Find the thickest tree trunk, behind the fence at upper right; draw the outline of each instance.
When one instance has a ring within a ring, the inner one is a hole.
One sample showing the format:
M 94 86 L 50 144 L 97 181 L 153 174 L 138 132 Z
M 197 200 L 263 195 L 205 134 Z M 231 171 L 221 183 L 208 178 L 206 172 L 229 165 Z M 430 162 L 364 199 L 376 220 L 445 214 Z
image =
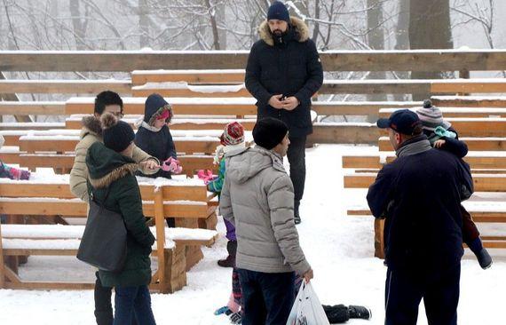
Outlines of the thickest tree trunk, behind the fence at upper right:
M 409 19 L 409 44 L 411 49 L 453 49 L 449 0 L 411 0 Z M 452 75 L 440 72 L 413 72 L 412 79 L 439 79 Z M 430 94 L 413 94 L 421 100 Z

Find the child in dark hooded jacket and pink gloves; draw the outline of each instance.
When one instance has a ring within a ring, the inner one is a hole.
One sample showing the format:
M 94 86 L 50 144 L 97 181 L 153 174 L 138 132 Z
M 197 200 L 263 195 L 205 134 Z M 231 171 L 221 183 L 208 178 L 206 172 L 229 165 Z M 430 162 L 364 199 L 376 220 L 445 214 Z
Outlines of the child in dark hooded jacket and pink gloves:
M 135 144 L 148 155 L 157 158 L 162 169 L 153 175 L 143 175 L 151 178 L 171 178 L 171 174 L 181 172 L 176 155 L 176 147 L 170 135 L 167 123 L 172 119 L 172 107 L 159 94 L 152 94 L 146 99 L 144 120 L 138 127 Z

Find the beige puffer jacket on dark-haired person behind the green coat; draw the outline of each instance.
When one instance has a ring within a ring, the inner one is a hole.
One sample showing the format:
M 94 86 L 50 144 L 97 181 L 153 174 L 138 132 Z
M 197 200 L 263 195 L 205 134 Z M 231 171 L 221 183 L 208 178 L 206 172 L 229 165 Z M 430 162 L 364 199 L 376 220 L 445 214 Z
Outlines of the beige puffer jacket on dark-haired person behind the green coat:
M 100 120 L 94 115 L 83 117 L 83 129 L 81 130 L 80 140 L 75 146 L 75 159 L 72 170 L 70 170 L 70 191 L 75 197 L 80 198 L 84 202 L 89 202 L 88 187 L 86 180 L 88 179 L 88 168 L 86 167 L 86 153 L 88 148 L 95 142 L 103 143 L 102 128 Z M 147 155 L 138 147 L 133 148 L 132 159 L 136 163 L 145 162 L 148 159 L 154 159 Z M 156 159 L 154 159 L 156 161 Z M 158 163 L 156 161 L 156 163 Z M 139 170 L 146 175 L 153 174 L 158 170 L 147 170 L 139 167 Z

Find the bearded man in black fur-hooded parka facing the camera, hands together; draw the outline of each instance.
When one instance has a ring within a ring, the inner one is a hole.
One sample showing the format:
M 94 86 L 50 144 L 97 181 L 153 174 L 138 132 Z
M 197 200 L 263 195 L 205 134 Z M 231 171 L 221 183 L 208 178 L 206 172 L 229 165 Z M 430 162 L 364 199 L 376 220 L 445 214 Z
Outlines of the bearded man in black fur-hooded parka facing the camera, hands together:
M 281 2 L 274 2 L 258 28 L 258 40 L 249 53 L 246 88 L 257 99 L 257 119 L 267 116 L 289 126 L 290 178 L 295 190 L 295 221 L 304 194 L 305 140 L 312 133 L 311 98 L 323 83 L 316 45 L 304 21 L 289 17 Z

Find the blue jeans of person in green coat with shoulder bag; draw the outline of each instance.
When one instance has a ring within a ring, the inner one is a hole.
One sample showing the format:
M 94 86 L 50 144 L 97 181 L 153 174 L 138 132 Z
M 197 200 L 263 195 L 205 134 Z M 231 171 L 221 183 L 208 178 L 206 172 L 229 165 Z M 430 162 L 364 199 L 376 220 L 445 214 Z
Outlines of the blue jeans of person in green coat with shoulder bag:
M 115 293 L 114 325 L 131 324 L 133 317 L 138 324 L 156 324 L 147 286 L 115 287 Z

